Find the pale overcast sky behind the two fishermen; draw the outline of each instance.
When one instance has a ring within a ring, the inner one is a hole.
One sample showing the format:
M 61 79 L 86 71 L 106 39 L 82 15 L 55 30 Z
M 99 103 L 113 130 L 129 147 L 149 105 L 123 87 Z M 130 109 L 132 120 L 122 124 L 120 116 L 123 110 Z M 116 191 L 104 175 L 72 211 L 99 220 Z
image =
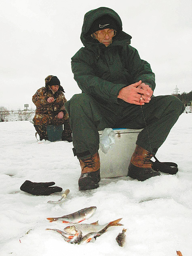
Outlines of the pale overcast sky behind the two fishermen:
M 156 74 L 154 95 L 192 90 L 192 0 L 1 0 L 0 106 L 35 109 L 32 95 L 50 74 L 65 97 L 80 89 L 71 57 L 82 47 L 84 14 L 105 6 L 120 15 L 131 46 Z

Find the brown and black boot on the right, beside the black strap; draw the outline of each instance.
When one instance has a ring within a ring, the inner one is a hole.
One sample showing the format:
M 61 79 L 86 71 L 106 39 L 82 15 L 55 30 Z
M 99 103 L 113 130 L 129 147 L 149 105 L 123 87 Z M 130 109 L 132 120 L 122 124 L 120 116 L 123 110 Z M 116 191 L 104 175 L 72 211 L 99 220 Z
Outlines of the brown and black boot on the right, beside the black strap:
M 140 181 L 154 176 L 160 176 L 160 172 L 152 169 L 152 163 L 150 162 L 152 157 L 153 154 L 137 145 L 131 157 L 127 175 Z

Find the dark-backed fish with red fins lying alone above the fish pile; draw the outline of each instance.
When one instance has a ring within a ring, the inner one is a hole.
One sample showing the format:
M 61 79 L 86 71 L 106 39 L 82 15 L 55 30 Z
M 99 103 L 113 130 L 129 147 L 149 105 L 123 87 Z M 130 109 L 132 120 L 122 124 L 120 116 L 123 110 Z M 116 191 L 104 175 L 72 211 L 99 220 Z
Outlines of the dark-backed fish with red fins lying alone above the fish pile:
M 72 214 L 63 215 L 61 217 L 47 218 L 47 220 L 49 220 L 50 222 L 61 220 L 63 223 L 78 223 L 78 222 L 82 222 L 83 220 L 89 219 L 96 209 L 97 209 L 96 206 L 91 206 L 91 207 L 81 209 Z

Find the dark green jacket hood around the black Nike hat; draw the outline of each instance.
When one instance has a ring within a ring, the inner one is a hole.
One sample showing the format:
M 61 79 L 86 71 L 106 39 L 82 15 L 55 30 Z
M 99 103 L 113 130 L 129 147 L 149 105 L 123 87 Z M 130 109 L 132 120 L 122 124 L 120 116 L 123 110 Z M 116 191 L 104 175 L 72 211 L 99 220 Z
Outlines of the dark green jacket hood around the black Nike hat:
M 91 37 L 91 34 L 88 34 L 91 25 L 93 22 L 98 19 L 99 17 L 103 15 L 109 15 L 113 19 L 115 19 L 116 23 L 118 24 L 118 31 L 116 36 L 114 37 L 115 41 L 118 41 L 119 44 L 122 44 L 122 41 L 128 42 L 128 44 L 131 43 L 131 36 L 125 32 L 122 31 L 122 21 L 119 17 L 119 15 L 112 9 L 108 7 L 99 7 L 97 9 L 91 10 L 87 12 L 84 15 L 84 21 L 82 25 L 82 31 L 80 35 L 81 42 L 83 43 L 84 46 L 88 46 L 91 44 L 100 44 L 97 40 L 93 39 Z M 120 43 L 121 42 L 121 43 Z

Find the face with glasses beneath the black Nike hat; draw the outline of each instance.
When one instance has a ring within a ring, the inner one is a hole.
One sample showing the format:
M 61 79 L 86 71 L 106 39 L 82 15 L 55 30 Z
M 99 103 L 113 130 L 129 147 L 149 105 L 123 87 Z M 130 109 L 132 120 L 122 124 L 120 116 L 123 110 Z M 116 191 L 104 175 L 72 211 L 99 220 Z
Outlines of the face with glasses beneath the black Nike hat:
M 112 43 L 112 38 L 115 36 L 115 34 L 116 30 L 105 28 L 104 30 L 98 30 L 94 32 L 91 36 L 108 47 Z

